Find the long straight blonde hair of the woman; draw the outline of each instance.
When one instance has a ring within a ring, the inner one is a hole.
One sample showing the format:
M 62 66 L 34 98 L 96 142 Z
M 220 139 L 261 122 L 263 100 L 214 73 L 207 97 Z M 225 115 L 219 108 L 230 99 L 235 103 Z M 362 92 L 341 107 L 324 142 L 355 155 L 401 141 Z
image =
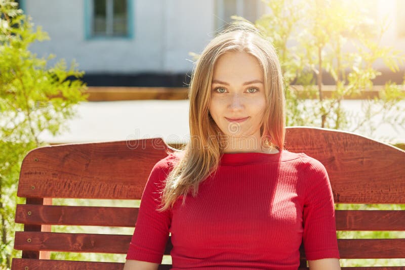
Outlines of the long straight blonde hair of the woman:
M 222 131 L 209 114 L 210 89 L 214 65 L 227 52 L 246 52 L 261 64 L 267 109 L 260 134 L 267 146 L 279 151 L 284 148 L 285 97 L 278 57 L 270 41 L 254 25 L 234 22 L 211 40 L 194 65 L 188 93 L 191 140 L 166 178 L 158 211 L 173 207 L 181 197 L 184 204 L 190 190 L 195 197 L 199 184 L 218 168 L 223 154 Z

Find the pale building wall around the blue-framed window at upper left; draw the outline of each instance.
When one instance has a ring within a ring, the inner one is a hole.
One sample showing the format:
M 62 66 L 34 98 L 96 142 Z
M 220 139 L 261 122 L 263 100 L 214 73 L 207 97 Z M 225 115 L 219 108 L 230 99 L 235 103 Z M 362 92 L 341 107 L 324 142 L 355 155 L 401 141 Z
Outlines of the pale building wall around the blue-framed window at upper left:
M 83 0 L 28 0 L 25 12 L 51 37 L 31 50 L 75 59 L 88 73 L 191 71 L 188 53 L 211 39 L 213 0 L 134 0 L 133 9 L 133 38 L 86 39 Z

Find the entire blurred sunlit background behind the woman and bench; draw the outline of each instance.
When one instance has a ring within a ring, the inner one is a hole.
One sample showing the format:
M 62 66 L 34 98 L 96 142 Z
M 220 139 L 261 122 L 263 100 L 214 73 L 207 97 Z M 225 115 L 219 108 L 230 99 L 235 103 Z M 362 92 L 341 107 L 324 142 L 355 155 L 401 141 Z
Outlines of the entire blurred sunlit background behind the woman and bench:
M 14 215 L 16 203 L 24 203 L 16 196 L 24 156 L 50 144 L 153 137 L 180 147 L 189 137 L 187 91 L 194 62 L 229 22 L 253 23 L 275 47 L 288 126 L 340 129 L 405 149 L 404 10 L 405 0 L 1 0 L 0 269 L 21 256 L 13 241 L 22 230 Z M 122 262 L 125 255 L 53 252 L 51 258 Z M 342 266 L 386 263 L 341 260 Z

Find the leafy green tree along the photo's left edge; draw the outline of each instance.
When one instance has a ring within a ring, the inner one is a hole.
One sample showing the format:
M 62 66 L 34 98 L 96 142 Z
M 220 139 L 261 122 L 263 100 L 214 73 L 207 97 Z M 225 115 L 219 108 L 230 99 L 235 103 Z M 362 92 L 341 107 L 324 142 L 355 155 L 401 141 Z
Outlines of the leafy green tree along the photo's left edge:
M 54 56 L 38 58 L 29 51 L 32 42 L 49 39 L 36 29 L 18 4 L 0 0 L 0 268 L 10 267 L 15 230 L 17 181 L 21 161 L 33 148 L 44 146 L 42 132 L 53 135 L 66 129 L 74 105 L 86 100 L 83 72 L 63 60 L 48 67 Z

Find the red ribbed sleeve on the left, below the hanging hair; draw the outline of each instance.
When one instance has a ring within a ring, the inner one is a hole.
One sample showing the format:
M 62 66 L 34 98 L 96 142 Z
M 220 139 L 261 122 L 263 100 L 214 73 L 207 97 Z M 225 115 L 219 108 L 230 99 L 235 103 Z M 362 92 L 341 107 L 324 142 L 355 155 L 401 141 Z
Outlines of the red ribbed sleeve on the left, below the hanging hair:
M 152 168 L 139 206 L 135 231 L 132 236 L 127 259 L 161 263 L 169 239 L 170 210 L 158 212 L 161 202 L 159 192 L 163 190 L 169 173 L 167 158 Z

